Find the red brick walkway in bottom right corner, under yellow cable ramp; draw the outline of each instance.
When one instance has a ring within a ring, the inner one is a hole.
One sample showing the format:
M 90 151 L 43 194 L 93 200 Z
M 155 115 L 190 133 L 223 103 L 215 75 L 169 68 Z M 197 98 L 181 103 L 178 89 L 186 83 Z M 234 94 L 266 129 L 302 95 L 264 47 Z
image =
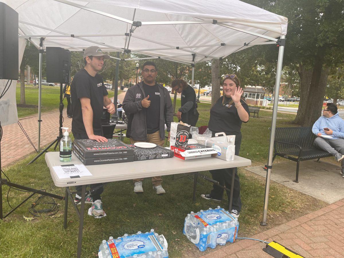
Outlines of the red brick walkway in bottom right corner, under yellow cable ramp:
M 275 240 L 304 257 L 344 257 L 344 199 L 251 238 Z M 271 257 L 262 250 L 265 246 L 258 241 L 237 240 L 216 247 L 202 258 Z

